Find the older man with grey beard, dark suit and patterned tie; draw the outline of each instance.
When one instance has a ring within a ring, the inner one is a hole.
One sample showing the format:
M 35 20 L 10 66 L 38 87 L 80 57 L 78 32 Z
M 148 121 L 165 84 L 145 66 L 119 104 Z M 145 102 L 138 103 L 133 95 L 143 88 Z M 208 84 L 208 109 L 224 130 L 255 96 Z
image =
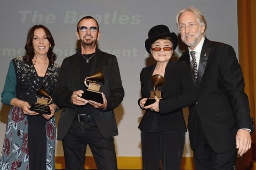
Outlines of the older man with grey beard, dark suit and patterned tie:
M 205 38 L 204 15 L 194 7 L 177 14 L 188 52 L 197 103 L 189 107 L 188 131 L 196 169 L 235 169 L 236 154 L 251 148 L 253 122 L 244 78 L 233 47 Z

